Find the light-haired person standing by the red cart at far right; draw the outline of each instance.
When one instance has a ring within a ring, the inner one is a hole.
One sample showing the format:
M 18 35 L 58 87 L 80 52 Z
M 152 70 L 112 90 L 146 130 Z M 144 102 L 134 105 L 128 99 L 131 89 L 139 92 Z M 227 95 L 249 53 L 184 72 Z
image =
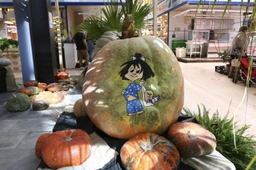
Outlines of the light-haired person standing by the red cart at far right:
M 231 65 L 231 60 L 236 58 L 235 49 L 240 48 L 242 56 L 244 56 L 245 52 L 247 51 L 247 45 L 248 45 L 247 32 L 248 32 L 248 26 L 241 26 L 239 29 L 239 32 L 237 33 L 237 35 L 234 37 L 232 41 L 231 49 L 229 51 L 230 70 L 229 70 L 228 78 L 233 78 L 234 67 Z

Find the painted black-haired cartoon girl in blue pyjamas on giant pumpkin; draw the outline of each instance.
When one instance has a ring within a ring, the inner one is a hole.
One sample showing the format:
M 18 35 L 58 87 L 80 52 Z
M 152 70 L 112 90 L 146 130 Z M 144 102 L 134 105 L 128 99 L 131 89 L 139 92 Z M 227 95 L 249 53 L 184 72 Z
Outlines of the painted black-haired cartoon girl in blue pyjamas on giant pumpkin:
M 122 90 L 121 94 L 124 95 L 124 99 L 127 100 L 126 110 L 128 115 L 135 115 L 144 113 L 142 103 L 140 103 L 138 92 L 142 89 L 143 81 L 139 84 L 134 83 L 137 79 L 146 80 L 153 78 L 155 73 L 151 70 L 150 66 L 145 62 L 145 57 L 140 53 L 136 53 L 132 56 L 132 60 L 129 60 L 121 65 L 125 66 L 119 72 L 122 79 L 130 80 L 129 86 Z

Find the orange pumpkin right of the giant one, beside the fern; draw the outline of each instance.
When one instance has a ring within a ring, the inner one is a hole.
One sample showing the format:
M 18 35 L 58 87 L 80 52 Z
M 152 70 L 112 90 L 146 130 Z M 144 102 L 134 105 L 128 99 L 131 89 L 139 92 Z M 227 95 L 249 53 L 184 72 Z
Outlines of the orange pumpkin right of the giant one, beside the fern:
M 208 155 L 216 148 L 215 136 L 197 123 L 173 124 L 169 128 L 168 139 L 176 146 L 182 158 Z

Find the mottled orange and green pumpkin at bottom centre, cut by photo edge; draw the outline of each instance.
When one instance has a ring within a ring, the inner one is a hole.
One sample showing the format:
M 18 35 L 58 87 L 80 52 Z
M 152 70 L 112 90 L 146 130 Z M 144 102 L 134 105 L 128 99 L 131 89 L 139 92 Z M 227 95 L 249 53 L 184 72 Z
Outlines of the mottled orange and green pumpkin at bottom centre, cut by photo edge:
M 164 137 L 139 134 L 121 148 L 121 161 L 126 169 L 177 169 L 179 152 Z

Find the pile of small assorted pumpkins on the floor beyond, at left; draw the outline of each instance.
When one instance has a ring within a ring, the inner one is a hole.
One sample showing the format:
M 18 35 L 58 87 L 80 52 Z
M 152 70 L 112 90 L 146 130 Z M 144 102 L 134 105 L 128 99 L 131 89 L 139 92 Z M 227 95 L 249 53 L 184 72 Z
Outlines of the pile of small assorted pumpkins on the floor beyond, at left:
M 6 102 L 8 111 L 23 111 L 30 108 L 33 110 L 46 110 L 49 104 L 57 104 L 64 100 L 66 91 L 73 89 L 77 84 L 76 78 L 69 78 L 69 73 L 59 72 L 58 83 L 38 83 L 31 80 L 23 83 L 18 94 L 13 94 Z

